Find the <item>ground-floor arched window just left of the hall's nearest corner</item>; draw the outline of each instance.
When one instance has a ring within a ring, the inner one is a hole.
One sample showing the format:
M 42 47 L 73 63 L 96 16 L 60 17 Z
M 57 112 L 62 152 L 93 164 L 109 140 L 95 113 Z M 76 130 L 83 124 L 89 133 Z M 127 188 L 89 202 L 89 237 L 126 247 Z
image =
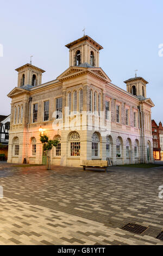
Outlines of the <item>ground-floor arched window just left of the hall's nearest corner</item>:
M 80 156 L 80 136 L 78 132 L 72 132 L 69 136 L 70 156 Z

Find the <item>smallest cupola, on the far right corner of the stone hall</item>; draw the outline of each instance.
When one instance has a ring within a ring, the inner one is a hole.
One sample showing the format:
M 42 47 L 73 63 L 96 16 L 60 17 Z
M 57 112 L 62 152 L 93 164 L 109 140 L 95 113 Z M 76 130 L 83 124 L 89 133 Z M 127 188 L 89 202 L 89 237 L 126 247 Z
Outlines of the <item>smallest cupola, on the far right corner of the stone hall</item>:
M 124 81 L 124 83 L 126 83 L 128 93 L 131 93 L 138 97 L 147 97 L 146 85 L 148 84 L 148 82 L 144 78 L 137 77 L 135 74 L 135 77 Z

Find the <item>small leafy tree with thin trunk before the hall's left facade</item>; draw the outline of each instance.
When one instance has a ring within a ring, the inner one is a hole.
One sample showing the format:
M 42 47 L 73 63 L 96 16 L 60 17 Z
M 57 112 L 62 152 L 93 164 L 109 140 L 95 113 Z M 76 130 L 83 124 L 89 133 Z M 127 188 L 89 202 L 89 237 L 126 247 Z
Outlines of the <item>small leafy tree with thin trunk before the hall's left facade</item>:
M 47 170 L 51 169 L 51 150 L 53 146 L 56 148 L 59 143 L 58 139 L 49 139 L 46 135 L 40 135 L 40 141 L 43 144 L 43 150 L 47 152 Z

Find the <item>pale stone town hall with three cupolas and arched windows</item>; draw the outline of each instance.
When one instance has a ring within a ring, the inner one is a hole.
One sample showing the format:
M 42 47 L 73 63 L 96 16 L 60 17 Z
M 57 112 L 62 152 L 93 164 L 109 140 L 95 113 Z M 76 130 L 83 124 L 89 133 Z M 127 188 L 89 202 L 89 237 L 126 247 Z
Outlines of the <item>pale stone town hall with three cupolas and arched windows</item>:
M 67 44 L 69 68 L 56 80 L 41 82 L 44 70 L 30 64 L 17 68 L 9 94 L 11 121 L 9 163 L 45 163 L 40 134 L 59 143 L 52 164 L 79 167 L 85 160 L 113 165 L 153 162 L 152 100 L 142 77 L 113 84 L 99 67 L 103 49 L 90 36 Z

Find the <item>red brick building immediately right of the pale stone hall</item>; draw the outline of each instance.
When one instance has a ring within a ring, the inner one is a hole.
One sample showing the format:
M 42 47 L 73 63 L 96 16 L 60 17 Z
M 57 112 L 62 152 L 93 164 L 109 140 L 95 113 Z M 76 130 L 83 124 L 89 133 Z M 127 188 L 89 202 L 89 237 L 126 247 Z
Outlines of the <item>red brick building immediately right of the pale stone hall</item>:
M 159 126 L 155 123 L 154 120 L 152 120 L 152 135 L 153 135 L 153 157 L 155 160 L 161 160 Z

